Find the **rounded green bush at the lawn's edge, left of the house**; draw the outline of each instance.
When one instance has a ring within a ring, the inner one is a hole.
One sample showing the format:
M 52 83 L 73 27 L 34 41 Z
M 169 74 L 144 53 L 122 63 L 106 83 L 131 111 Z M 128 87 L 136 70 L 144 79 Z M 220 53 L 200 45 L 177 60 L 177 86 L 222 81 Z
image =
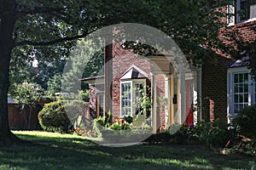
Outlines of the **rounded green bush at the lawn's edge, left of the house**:
M 38 120 L 44 131 L 67 133 L 71 122 L 61 100 L 44 105 L 38 113 Z

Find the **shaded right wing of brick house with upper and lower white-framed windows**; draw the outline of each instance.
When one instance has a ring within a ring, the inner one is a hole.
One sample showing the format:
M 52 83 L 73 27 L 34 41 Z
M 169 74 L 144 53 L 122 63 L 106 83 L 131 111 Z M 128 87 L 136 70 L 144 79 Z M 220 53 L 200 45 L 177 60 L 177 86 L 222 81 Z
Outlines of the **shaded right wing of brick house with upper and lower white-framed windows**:
M 234 14 L 226 20 L 230 32 L 244 42 L 255 41 L 256 1 L 236 0 L 236 5 L 228 5 L 226 9 L 225 12 Z M 220 30 L 223 42 L 237 46 L 224 31 L 224 28 Z M 230 122 L 241 108 L 256 103 L 256 84 L 249 74 L 249 57 L 247 53 L 241 53 L 240 59 L 220 54 L 214 64 L 205 61 L 201 71 L 202 119 Z

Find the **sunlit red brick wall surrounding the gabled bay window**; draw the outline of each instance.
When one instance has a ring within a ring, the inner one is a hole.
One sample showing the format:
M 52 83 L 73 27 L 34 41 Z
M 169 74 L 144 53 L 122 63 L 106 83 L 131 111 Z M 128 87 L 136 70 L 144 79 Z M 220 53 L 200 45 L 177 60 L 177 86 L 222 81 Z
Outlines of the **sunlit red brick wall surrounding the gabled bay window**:
M 148 74 L 147 82 L 151 82 L 150 63 L 143 57 L 138 57 L 131 50 L 120 48 L 118 43 L 113 44 L 113 83 L 112 83 L 112 111 L 113 117 L 120 116 L 120 81 L 119 78 L 127 71 L 131 65 L 136 65 Z M 156 93 L 158 98 L 165 96 L 165 82 L 163 75 L 156 76 Z M 148 84 L 150 86 L 150 83 Z M 157 127 L 165 129 L 165 105 L 157 107 Z

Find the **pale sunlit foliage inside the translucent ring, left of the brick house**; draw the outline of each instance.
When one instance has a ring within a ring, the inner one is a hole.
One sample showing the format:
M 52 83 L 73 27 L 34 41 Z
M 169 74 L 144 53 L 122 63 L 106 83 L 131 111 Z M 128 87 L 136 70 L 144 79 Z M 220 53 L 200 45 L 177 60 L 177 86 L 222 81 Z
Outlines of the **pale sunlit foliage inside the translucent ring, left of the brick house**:
M 63 91 L 75 93 L 85 86 L 79 78 L 103 75 L 104 49 L 96 51 L 98 43 L 104 47 L 102 40 L 81 39 L 77 42 L 63 73 Z

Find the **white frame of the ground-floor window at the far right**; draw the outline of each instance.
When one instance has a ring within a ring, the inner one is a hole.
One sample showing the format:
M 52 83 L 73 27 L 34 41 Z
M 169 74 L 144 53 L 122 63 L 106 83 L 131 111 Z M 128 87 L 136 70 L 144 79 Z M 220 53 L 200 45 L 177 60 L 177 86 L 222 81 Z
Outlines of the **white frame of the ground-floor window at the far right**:
M 227 117 L 228 122 L 231 122 L 232 116 L 236 116 L 234 113 L 234 100 L 235 100 L 235 93 L 234 93 L 234 75 L 235 74 L 241 74 L 241 73 L 247 73 L 248 74 L 248 105 L 253 105 L 255 103 L 255 88 L 254 84 L 256 82 L 253 81 L 253 77 L 250 75 L 250 70 L 247 68 L 247 66 L 244 67 L 235 67 L 230 68 L 228 70 L 227 75 L 227 96 L 228 96 L 228 108 L 227 108 Z

